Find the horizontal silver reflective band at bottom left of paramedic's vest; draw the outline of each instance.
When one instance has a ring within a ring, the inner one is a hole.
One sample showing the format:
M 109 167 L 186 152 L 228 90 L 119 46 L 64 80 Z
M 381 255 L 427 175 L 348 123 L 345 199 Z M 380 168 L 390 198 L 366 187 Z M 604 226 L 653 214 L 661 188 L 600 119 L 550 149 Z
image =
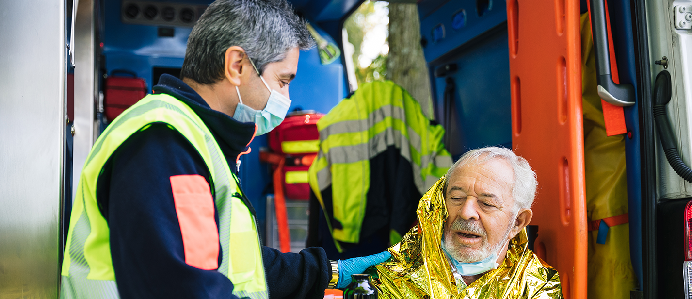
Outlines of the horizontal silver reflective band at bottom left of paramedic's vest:
M 118 286 L 113 280 L 90 280 L 62 276 L 60 298 L 63 299 L 118 299 Z

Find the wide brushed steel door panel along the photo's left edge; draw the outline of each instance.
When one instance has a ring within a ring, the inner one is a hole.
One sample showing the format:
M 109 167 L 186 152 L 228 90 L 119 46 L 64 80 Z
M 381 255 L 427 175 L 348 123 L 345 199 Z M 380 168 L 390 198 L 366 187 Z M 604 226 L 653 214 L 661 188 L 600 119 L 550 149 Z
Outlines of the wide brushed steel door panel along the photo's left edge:
M 0 1 L 0 298 L 57 298 L 65 1 Z

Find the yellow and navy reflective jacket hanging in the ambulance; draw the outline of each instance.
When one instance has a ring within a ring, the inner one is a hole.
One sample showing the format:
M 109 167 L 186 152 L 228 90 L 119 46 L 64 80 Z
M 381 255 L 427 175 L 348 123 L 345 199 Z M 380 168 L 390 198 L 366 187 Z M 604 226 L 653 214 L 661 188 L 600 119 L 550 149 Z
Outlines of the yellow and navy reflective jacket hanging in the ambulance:
M 390 227 L 392 244 L 415 223 L 418 199 L 452 165 L 444 129 L 391 81 L 363 84 L 317 123 L 309 184 L 336 248 Z M 367 217 L 366 217 L 367 216 Z

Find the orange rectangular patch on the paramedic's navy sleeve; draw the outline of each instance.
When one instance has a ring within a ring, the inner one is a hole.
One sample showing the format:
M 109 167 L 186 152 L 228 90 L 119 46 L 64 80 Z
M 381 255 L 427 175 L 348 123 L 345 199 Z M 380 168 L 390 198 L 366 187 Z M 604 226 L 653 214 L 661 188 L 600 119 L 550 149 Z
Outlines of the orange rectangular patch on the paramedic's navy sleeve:
M 183 235 L 185 264 L 203 270 L 219 268 L 219 230 L 209 183 L 199 174 L 170 177 L 173 201 Z

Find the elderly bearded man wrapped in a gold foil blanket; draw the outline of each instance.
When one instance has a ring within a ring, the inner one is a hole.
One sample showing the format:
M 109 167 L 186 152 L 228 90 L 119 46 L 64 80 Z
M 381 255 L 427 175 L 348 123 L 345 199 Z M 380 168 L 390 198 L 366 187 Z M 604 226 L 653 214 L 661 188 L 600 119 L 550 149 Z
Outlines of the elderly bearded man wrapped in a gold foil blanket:
M 466 152 L 421 199 L 392 260 L 371 268 L 376 287 L 385 298 L 563 298 L 557 271 L 527 249 L 535 193 L 511 150 Z

